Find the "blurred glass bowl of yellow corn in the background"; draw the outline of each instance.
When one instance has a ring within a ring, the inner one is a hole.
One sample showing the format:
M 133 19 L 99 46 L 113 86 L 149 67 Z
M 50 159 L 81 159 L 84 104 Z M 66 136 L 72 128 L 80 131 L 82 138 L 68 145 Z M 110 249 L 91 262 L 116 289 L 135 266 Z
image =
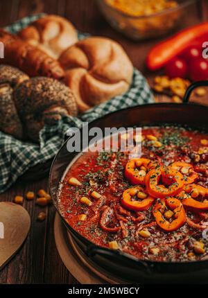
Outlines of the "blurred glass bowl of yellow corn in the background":
M 187 21 L 196 15 L 197 0 L 175 0 L 177 6 L 168 8 L 152 15 L 135 17 L 121 12 L 106 0 L 97 0 L 104 17 L 110 25 L 133 40 L 144 40 L 160 37 L 173 31 L 175 28 L 187 26 Z

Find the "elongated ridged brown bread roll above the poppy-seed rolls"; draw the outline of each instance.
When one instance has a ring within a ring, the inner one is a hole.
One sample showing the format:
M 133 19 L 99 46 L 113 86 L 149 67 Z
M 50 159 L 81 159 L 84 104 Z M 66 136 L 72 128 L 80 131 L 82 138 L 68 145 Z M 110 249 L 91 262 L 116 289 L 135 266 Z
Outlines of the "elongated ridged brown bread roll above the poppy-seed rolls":
M 4 58 L 0 64 L 10 64 L 28 76 L 47 76 L 56 79 L 64 77 L 64 71 L 59 62 L 49 55 L 0 29 L 0 42 L 4 44 Z

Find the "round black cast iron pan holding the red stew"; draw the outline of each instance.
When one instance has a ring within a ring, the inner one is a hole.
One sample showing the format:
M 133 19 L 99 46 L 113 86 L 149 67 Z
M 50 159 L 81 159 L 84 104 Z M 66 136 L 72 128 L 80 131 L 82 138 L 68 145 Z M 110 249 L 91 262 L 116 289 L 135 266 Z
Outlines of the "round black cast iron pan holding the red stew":
M 183 103 L 155 103 L 129 107 L 89 123 L 89 129 L 99 127 L 134 127 L 143 125 L 188 125 L 190 128 L 208 131 L 208 107 L 188 103 L 191 91 L 208 86 L 208 81 L 195 82 L 187 89 Z M 80 132 L 82 132 L 80 130 Z M 89 138 L 90 140 L 90 138 Z M 64 225 L 94 264 L 132 283 L 208 283 L 208 260 L 189 262 L 143 261 L 119 251 L 94 245 L 64 220 L 58 205 L 58 184 L 64 171 L 78 153 L 67 151 L 67 141 L 60 148 L 51 166 L 49 186 L 53 203 Z

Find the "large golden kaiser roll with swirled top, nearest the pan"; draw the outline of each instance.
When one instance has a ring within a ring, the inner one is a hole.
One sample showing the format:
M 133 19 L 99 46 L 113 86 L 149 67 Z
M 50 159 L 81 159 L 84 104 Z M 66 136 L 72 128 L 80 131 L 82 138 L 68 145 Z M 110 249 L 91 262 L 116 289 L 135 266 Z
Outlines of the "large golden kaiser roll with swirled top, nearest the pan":
M 81 112 L 123 94 L 132 82 L 133 67 L 123 48 L 104 37 L 89 37 L 60 55 L 65 84 Z

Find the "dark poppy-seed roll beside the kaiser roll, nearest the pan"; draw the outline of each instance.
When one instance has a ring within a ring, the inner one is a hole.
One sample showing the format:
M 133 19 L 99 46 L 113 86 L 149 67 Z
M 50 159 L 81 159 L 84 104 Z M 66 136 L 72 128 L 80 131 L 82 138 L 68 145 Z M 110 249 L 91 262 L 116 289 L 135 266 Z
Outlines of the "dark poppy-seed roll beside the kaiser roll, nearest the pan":
M 28 139 L 38 141 L 44 124 L 53 125 L 62 115 L 76 116 L 76 100 L 67 86 L 53 78 L 36 77 L 22 82 L 15 103 Z

